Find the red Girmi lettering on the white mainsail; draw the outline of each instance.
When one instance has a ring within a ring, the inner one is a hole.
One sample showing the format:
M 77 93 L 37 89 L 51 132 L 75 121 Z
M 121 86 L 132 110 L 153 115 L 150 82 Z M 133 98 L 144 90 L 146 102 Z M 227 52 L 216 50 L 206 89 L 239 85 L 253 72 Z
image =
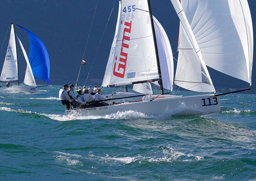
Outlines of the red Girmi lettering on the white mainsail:
M 122 24 L 122 21 L 121 21 L 121 24 Z M 122 46 L 121 46 L 121 52 L 120 52 L 118 65 L 117 65 L 117 62 L 115 62 L 114 71 L 113 71 L 113 75 L 120 77 L 120 78 L 124 78 L 126 61 L 127 61 L 127 57 L 128 57 L 128 54 L 125 53 L 124 48 L 129 49 L 129 44 L 127 44 L 128 43 L 127 41 L 130 41 L 132 21 L 130 21 L 130 23 L 124 22 L 124 26 L 126 26 L 128 28 L 124 28 L 123 36 L 122 36 Z M 128 33 L 129 33 L 129 35 L 128 35 Z M 126 41 L 126 43 L 124 41 Z M 117 57 L 115 57 L 115 60 L 117 61 Z

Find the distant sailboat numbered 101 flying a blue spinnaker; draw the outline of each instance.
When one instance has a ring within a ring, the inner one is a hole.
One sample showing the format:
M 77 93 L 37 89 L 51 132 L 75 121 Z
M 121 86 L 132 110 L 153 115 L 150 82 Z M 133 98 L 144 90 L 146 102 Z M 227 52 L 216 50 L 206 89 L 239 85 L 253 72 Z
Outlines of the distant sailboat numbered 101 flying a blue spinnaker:
M 0 91 L 18 91 L 34 93 L 37 92 L 37 87 L 44 87 L 36 85 L 34 76 L 49 84 L 49 55 L 45 45 L 37 36 L 35 36 L 31 31 L 21 26 L 19 27 L 25 30 L 26 33 L 28 33 L 30 39 L 30 55 L 28 57 L 28 55 L 26 54 L 22 42 L 20 41 L 18 35 L 15 33 L 14 24 L 11 23 L 9 44 L 6 52 L 6 57 L 4 60 L 4 65 L 2 68 L 2 73 L 0 76 L 0 81 L 17 81 L 18 85 L 13 85 L 11 87 L 0 87 Z M 27 63 L 26 74 L 23 82 L 26 86 L 20 85 L 19 83 L 19 68 L 16 39 L 19 42 L 20 48 Z

